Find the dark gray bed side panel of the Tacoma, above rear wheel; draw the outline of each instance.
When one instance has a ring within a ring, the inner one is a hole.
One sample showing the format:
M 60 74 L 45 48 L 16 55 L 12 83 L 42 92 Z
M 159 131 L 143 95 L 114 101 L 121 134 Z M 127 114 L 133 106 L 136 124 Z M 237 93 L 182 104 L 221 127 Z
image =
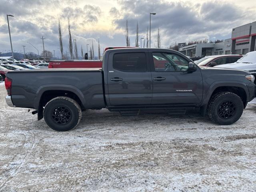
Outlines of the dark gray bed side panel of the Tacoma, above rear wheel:
M 98 68 L 52 68 L 8 72 L 16 107 L 38 109 L 41 97 L 52 90 L 78 96 L 84 108 L 105 107 L 102 71 Z

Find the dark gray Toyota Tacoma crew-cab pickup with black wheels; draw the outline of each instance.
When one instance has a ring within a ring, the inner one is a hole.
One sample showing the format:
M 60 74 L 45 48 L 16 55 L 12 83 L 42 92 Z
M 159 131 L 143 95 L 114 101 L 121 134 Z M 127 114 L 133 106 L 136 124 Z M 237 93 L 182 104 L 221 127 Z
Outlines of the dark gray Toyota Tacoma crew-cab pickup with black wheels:
M 234 69 L 198 67 L 169 49 L 107 50 L 102 69 L 56 68 L 6 74 L 9 106 L 33 108 L 57 131 L 78 125 L 82 110 L 121 114 L 193 110 L 222 125 L 236 122 L 255 97 L 254 76 Z

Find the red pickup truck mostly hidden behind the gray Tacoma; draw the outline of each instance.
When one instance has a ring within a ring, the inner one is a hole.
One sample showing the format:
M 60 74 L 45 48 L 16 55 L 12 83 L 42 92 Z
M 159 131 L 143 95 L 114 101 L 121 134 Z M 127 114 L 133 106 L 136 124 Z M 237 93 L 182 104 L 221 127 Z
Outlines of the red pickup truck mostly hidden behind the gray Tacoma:
M 108 49 L 135 48 L 135 47 L 107 47 Z M 48 68 L 102 68 L 102 60 L 52 60 Z

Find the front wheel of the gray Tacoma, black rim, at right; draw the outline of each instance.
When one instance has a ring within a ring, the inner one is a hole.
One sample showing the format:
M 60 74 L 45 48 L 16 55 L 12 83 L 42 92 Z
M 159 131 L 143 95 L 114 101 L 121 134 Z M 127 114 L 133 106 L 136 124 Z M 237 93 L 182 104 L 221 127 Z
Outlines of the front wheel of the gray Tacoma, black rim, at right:
M 212 122 L 220 125 L 230 125 L 243 114 L 242 99 L 232 92 L 219 92 L 212 96 L 208 104 L 208 116 Z

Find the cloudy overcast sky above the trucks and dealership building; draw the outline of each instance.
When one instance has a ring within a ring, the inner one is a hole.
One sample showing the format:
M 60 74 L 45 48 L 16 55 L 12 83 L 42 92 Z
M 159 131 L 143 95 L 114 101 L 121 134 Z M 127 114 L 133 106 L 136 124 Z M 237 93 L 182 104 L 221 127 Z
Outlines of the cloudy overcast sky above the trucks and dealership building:
M 255 0 L 0 0 L 0 51 L 10 50 L 6 14 L 10 17 L 13 48 L 16 51 L 42 52 L 56 50 L 60 56 L 58 19 L 62 25 L 64 51 L 68 51 L 68 17 L 72 39 L 77 40 L 79 55 L 82 46 L 97 42 L 101 51 L 107 46 L 125 46 L 126 19 L 129 24 L 131 46 L 135 45 L 136 23 L 140 38 L 146 37 L 149 13 L 156 12 L 151 20 L 151 47 L 156 46 L 157 29 L 161 44 L 167 48 L 174 42 L 188 42 L 201 38 L 209 40 L 231 37 L 232 28 L 256 20 Z M 143 40 L 142 40 L 143 44 Z

